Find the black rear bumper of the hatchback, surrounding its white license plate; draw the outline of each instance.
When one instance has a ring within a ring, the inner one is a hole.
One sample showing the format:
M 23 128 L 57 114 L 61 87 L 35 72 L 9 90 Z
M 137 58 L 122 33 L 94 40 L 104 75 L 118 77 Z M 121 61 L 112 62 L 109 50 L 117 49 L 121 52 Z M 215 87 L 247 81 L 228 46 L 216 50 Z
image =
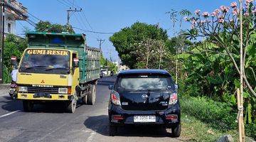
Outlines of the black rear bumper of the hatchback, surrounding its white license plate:
M 168 116 L 177 116 L 177 119 L 167 119 Z M 113 116 L 120 116 L 122 119 L 114 119 Z M 156 116 L 155 122 L 134 122 L 134 116 Z M 181 111 L 179 104 L 169 107 L 165 110 L 153 111 L 128 111 L 122 107 L 110 104 L 109 120 L 112 126 L 124 125 L 161 125 L 166 127 L 176 126 L 181 122 Z

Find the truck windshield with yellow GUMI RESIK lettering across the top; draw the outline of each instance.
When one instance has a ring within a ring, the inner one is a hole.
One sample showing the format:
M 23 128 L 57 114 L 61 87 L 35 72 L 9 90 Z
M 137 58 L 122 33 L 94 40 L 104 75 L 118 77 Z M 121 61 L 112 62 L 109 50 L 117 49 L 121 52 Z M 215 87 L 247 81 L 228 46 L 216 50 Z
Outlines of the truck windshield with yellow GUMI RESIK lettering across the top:
M 21 72 L 67 74 L 70 53 L 66 50 L 26 50 L 21 61 Z

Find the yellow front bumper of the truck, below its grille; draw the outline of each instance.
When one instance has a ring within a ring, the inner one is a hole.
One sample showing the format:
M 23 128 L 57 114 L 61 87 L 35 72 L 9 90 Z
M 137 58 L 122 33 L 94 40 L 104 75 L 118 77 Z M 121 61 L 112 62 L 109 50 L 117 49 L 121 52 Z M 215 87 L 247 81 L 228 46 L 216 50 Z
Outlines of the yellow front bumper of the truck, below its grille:
M 18 93 L 17 99 L 31 99 L 31 100 L 49 100 L 49 101 L 68 101 L 73 99 L 73 95 L 68 94 L 29 94 Z

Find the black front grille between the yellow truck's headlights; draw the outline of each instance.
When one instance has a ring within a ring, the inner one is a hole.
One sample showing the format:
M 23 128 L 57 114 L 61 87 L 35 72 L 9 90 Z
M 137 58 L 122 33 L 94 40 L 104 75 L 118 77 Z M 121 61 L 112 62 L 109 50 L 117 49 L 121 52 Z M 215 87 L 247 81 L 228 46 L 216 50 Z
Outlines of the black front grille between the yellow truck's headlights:
M 28 93 L 50 93 L 50 94 L 58 94 L 57 87 L 28 87 Z

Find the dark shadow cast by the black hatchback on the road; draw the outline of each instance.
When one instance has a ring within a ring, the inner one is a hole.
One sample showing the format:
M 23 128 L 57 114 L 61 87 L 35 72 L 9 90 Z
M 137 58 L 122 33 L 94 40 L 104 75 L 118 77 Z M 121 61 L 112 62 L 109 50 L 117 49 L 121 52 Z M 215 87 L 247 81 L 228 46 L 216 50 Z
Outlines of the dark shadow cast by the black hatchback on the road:
M 104 136 L 109 136 L 108 116 L 89 116 L 84 125 Z M 117 136 L 139 136 L 139 137 L 170 137 L 171 133 L 159 126 L 125 126 L 119 127 Z

